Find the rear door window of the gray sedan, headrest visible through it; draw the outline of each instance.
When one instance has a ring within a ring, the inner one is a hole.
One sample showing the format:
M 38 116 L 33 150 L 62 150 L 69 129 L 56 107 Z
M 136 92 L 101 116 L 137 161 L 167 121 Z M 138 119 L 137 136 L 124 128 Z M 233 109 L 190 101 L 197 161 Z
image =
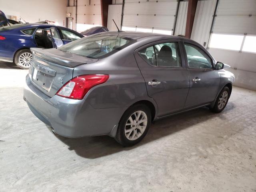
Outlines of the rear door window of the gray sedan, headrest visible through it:
M 150 46 L 138 52 L 150 65 L 182 67 L 178 42 L 166 42 Z

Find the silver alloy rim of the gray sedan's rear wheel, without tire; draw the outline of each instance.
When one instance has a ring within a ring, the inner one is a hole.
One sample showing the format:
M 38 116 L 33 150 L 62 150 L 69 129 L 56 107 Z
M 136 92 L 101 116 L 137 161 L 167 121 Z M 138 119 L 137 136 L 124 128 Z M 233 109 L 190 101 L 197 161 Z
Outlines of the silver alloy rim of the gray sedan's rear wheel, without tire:
M 144 111 L 134 112 L 126 121 L 124 133 L 128 140 L 136 140 L 146 130 L 148 117 Z

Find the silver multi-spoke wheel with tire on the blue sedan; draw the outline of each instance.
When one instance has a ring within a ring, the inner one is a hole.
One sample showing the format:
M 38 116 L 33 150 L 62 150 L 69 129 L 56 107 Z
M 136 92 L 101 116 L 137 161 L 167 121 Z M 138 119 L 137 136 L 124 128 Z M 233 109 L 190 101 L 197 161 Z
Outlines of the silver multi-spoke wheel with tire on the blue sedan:
M 32 52 L 29 49 L 22 49 L 14 56 L 15 64 L 21 69 L 28 69 L 32 64 Z

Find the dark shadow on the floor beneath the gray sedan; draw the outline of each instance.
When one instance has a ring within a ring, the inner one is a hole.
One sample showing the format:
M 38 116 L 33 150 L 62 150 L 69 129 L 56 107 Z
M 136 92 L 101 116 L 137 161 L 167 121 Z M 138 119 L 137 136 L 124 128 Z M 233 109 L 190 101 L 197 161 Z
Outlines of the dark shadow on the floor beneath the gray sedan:
M 228 110 L 231 110 L 234 107 L 234 104 L 228 105 L 227 110 L 225 109 L 223 112 L 228 112 Z M 221 114 L 212 113 L 207 107 L 204 107 L 158 120 L 152 123 L 145 138 L 132 147 L 122 147 L 114 140 L 114 138 L 109 136 L 65 138 L 56 135 L 56 137 L 68 145 L 69 150 L 74 150 L 79 156 L 94 159 L 124 150 L 132 150 L 133 148 L 140 147 L 148 142 L 187 129 L 194 124 L 199 124 L 200 122 L 204 122 L 216 116 L 221 116 Z

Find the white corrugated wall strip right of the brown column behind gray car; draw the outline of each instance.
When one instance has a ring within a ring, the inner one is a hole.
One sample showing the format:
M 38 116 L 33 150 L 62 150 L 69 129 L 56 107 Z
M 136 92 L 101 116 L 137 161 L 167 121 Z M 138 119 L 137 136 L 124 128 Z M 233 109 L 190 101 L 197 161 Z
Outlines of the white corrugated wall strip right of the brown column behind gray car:
M 205 48 L 210 35 L 214 10 L 217 0 L 201 0 L 197 2 L 196 14 L 191 33 L 191 39 Z

